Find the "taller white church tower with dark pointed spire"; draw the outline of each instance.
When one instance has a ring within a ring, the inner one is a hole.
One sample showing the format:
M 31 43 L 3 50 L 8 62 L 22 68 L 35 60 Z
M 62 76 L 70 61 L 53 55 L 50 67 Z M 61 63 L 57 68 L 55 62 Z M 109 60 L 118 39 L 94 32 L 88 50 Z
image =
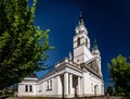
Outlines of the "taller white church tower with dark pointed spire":
M 83 63 L 92 58 L 90 51 L 90 38 L 88 37 L 88 30 L 84 26 L 82 13 L 80 12 L 79 23 L 76 26 L 74 36 L 74 62 Z

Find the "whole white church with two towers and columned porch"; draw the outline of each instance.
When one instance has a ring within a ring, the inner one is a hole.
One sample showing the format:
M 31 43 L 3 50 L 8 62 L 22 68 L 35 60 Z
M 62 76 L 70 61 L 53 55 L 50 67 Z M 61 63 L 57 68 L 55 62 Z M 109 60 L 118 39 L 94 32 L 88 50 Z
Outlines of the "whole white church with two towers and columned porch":
M 55 69 L 41 78 L 35 75 L 18 83 L 18 97 L 74 98 L 104 95 L 101 54 L 96 42 L 90 47 L 88 29 L 82 14 L 75 29 L 74 55 L 55 64 Z

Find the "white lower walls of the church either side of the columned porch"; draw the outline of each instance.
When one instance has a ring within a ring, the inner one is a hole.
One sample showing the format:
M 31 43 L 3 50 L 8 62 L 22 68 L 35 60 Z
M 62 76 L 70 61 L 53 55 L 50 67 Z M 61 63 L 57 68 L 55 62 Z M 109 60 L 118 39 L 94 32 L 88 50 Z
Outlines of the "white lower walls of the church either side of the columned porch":
M 67 64 L 68 65 L 68 64 Z M 41 97 L 62 97 L 63 91 L 63 78 L 64 73 L 67 72 L 69 74 L 73 74 L 75 76 L 80 76 L 81 78 L 81 95 L 83 96 L 93 96 L 94 95 L 94 86 L 98 87 L 98 95 L 103 94 L 102 85 L 103 81 L 94 76 L 92 73 L 88 72 L 87 70 L 80 72 L 78 69 L 73 70 L 73 67 L 66 67 L 63 71 L 60 71 L 57 73 L 54 73 L 53 75 L 48 76 L 47 78 L 42 78 L 41 81 L 35 83 L 35 82 L 22 82 L 18 86 L 18 96 L 41 96 Z M 68 75 L 69 77 L 69 75 Z M 52 81 L 52 89 L 48 90 L 48 81 Z M 73 79 L 74 82 L 74 79 Z M 75 83 L 74 83 L 75 84 Z M 32 92 L 26 92 L 25 91 L 25 85 L 32 85 Z M 93 85 L 93 86 L 91 86 Z M 69 85 L 68 85 L 69 86 Z M 70 95 L 75 94 L 75 89 L 72 87 Z

